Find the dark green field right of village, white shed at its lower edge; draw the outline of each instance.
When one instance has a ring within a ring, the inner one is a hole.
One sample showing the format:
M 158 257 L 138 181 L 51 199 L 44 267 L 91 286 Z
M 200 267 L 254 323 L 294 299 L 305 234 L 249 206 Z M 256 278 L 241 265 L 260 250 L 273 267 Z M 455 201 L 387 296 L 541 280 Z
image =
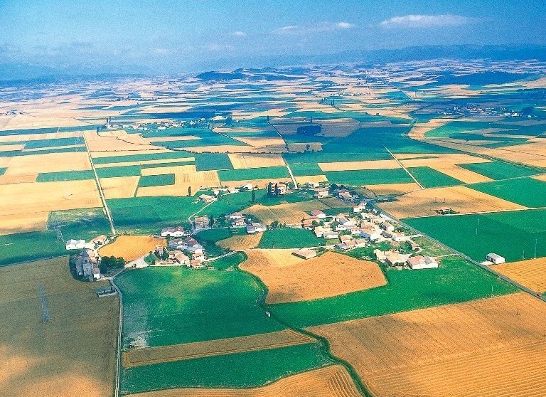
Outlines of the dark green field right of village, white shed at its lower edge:
M 480 262 L 486 260 L 488 253 L 502 255 L 509 262 L 532 258 L 535 243 L 537 256 L 546 256 L 546 210 L 542 209 L 433 216 L 405 221 Z

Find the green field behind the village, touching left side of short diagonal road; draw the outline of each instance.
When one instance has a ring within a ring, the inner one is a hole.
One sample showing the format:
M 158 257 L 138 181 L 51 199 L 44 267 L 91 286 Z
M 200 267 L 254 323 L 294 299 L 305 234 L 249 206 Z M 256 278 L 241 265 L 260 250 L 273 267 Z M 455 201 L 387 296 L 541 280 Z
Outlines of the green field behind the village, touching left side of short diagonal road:
M 404 169 L 362 169 L 358 171 L 324 172 L 328 181 L 350 186 L 378 184 L 410 184 L 413 179 Z

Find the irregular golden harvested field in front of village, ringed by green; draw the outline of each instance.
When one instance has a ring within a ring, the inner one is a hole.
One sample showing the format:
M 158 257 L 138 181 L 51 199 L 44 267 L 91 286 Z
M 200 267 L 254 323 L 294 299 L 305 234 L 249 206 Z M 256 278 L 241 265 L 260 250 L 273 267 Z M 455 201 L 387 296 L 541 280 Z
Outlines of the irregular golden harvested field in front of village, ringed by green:
M 332 252 L 296 261 L 291 250 L 272 251 L 247 251 L 248 260 L 240 265 L 267 285 L 266 302 L 270 304 L 333 297 L 387 284 L 377 263 Z

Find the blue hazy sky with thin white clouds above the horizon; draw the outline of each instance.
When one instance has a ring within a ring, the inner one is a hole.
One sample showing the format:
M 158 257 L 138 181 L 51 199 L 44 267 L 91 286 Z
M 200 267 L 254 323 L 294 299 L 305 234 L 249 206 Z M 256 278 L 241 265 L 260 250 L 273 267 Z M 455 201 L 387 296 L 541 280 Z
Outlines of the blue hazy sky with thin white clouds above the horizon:
M 0 63 L 158 73 L 223 59 L 546 44 L 544 0 L 0 0 Z

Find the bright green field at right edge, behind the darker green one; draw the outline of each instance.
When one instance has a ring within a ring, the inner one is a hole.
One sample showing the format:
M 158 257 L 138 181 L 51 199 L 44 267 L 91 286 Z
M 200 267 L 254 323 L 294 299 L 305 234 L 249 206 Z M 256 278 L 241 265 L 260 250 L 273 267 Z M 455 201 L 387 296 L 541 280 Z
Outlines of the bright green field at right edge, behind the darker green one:
M 526 207 L 546 206 L 546 182 L 532 178 L 472 184 L 470 188 Z

